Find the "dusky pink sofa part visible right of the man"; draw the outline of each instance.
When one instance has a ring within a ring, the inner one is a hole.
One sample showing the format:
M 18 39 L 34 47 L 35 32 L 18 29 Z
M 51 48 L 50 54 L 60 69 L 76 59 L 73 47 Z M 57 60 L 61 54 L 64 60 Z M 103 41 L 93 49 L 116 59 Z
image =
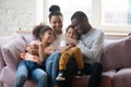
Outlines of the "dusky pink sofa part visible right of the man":
M 105 42 L 100 87 L 131 87 L 131 36 Z M 90 76 L 75 79 L 73 87 L 87 87 Z

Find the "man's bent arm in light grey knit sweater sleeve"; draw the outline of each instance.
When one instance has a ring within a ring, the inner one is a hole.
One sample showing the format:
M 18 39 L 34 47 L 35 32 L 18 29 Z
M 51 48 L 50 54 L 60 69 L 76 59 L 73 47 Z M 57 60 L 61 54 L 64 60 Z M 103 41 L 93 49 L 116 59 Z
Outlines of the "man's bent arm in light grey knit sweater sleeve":
M 87 42 L 87 41 L 86 41 Z M 81 52 L 88 59 L 96 59 L 100 53 L 104 42 L 104 33 L 98 33 L 94 42 L 88 48 L 83 41 L 79 41 L 78 47 L 81 49 Z

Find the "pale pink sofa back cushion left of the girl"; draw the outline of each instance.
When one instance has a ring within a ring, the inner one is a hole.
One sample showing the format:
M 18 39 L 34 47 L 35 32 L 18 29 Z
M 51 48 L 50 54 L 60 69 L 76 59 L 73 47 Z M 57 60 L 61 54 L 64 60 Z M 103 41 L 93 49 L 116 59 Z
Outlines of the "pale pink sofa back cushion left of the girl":
M 15 70 L 17 63 L 20 62 L 20 53 L 25 51 L 27 44 L 29 44 L 34 37 L 14 35 L 0 37 L 0 59 L 2 59 L 4 64 L 12 70 Z

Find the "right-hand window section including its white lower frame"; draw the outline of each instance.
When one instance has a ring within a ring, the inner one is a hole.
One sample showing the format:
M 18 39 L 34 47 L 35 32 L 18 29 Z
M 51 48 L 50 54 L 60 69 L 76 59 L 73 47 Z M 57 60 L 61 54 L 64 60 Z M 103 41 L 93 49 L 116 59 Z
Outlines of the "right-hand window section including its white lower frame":
M 102 0 L 100 26 L 107 32 L 131 32 L 131 0 Z

